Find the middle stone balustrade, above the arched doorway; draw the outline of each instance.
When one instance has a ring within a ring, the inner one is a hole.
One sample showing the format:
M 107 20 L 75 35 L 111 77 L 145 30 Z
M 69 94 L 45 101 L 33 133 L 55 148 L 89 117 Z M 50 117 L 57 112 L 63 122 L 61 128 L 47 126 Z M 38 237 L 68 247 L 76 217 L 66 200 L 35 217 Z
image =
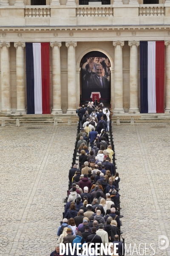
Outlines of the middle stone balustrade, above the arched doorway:
M 113 17 L 112 7 L 87 7 L 79 6 L 77 8 L 77 17 Z

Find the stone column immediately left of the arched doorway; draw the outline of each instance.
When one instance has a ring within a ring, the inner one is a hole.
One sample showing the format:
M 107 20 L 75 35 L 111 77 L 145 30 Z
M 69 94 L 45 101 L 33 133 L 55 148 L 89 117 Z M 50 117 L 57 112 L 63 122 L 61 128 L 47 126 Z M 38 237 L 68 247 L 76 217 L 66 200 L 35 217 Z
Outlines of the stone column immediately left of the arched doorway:
M 76 51 L 77 42 L 65 42 L 68 48 L 68 110 L 67 114 L 74 112 L 78 102 L 76 101 Z

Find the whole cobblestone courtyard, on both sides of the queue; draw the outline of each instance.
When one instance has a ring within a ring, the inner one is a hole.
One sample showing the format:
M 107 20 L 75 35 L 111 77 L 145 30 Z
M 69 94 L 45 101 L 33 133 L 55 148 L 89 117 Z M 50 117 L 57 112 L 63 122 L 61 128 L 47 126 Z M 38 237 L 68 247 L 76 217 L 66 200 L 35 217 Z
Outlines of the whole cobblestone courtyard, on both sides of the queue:
M 54 250 L 76 132 L 76 126 L 0 128 L 0 256 Z M 113 126 L 121 230 L 132 251 L 134 243 L 155 243 L 155 255 L 170 255 L 170 247 L 158 249 L 158 237 L 170 236 L 169 134 L 166 124 Z

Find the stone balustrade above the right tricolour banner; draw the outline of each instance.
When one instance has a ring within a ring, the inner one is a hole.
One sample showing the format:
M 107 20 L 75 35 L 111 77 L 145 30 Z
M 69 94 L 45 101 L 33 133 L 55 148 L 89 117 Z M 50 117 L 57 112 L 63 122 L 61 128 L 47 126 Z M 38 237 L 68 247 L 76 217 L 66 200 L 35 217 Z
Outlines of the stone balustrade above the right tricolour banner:
M 162 4 L 155 5 L 140 5 L 139 7 L 139 16 L 164 16 L 165 9 Z

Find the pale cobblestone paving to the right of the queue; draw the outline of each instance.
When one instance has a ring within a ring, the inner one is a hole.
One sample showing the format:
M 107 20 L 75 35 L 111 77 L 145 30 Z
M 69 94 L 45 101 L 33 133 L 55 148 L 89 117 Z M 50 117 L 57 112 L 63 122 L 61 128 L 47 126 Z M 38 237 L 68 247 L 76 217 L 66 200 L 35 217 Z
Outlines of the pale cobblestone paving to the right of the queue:
M 114 125 L 113 134 L 125 242 L 138 252 L 140 243 L 155 243 L 155 255 L 170 255 L 170 246 L 158 248 L 160 235 L 170 238 L 170 125 Z

